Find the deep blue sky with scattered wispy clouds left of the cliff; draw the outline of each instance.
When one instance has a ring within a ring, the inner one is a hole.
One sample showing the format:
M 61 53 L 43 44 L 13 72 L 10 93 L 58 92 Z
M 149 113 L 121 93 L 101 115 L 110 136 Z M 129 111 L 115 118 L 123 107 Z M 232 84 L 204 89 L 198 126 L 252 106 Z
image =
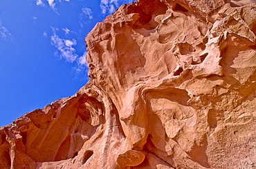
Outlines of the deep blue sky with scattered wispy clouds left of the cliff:
M 1 0 L 0 126 L 84 86 L 84 37 L 131 1 Z

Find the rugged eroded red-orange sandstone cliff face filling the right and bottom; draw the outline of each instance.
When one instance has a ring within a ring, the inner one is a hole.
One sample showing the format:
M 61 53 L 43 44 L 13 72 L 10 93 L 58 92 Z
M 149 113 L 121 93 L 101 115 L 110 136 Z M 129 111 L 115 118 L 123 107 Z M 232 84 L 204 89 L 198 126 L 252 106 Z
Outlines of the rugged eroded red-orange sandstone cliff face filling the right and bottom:
M 255 168 L 253 0 L 138 0 L 86 37 L 89 82 L 0 128 L 0 168 Z

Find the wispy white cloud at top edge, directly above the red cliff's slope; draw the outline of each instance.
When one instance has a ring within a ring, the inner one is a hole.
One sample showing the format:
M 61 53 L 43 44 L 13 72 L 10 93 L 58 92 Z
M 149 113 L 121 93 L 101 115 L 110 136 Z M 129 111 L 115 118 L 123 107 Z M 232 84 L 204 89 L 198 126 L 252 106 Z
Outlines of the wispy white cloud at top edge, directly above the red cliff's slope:
M 122 3 L 131 3 L 134 0 L 100 0 L 100 9 L 102 14 L 111 14 L 115 12 Z

